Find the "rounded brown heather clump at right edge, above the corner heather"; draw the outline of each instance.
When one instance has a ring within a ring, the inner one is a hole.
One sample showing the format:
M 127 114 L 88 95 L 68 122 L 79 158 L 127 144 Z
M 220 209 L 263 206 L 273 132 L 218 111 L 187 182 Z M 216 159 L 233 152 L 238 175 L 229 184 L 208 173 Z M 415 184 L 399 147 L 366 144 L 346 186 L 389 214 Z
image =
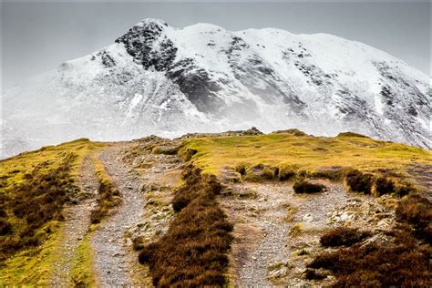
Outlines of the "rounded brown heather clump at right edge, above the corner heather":
M 408 195 L 396 208 L 397 221 L 410 224 L 419 239 L 432 243 L 432 203 L 417 194 Z

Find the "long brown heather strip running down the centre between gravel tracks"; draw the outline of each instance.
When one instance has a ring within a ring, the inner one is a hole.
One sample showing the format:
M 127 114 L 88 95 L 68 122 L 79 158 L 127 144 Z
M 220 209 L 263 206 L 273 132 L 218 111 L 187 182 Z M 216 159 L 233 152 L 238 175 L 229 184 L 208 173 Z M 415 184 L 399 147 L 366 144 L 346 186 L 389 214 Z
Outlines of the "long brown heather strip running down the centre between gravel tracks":
M 182 176 L 172 201 L 178 214 L 159 241 L 141 250 L 139 262 L 149 265 L 157 287 L 226 285 L 232 225 L 215 199 L 221 184 L 192 166 Z

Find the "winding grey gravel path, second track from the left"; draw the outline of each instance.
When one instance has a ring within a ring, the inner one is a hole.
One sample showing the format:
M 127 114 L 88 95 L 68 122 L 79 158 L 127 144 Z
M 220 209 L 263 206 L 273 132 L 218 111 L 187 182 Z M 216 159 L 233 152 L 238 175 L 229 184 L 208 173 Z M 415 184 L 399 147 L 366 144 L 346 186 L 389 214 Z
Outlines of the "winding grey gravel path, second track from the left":
M 127 163 L 122 153 L 131 148 L 130 143 L 116 143 L 103 150 L 99 159 L 120 192 L 121 204 L 114 215 L 102 221 L 91 239 L 95 257 L 98 285 L 102 287 L 134 285 L 132 274 L 137 255 L 126 242 L 125 235 L 141 220 L 145 200 L 140 192 L 143 180 Z

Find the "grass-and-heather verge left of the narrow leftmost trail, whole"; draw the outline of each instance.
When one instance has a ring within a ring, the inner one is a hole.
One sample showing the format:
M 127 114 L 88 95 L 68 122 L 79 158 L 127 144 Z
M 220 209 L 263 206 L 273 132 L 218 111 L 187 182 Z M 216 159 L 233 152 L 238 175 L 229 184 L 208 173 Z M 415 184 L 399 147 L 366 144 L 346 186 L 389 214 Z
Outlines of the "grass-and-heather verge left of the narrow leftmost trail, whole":
M 82 159 L 104 147 L 88 139 L 0 161 L 0 274 L 8 284 L 45 283 L 61 241 L 63 206 L 79 191 Z M 59 223 L 60 222 L 60 223 Z M 12 281 L 12 282 L 10 282 Z

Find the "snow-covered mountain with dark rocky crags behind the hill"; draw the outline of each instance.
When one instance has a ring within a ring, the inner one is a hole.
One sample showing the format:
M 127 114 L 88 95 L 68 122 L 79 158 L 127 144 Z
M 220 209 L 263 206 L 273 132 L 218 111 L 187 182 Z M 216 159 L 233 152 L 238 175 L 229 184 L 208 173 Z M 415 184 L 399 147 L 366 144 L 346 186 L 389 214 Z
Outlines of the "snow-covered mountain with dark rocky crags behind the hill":
M 431 148 L 429 76 L 365 44 L 146 19 L 5 91 L 4 154 L 68 139 L 298 128 Z

